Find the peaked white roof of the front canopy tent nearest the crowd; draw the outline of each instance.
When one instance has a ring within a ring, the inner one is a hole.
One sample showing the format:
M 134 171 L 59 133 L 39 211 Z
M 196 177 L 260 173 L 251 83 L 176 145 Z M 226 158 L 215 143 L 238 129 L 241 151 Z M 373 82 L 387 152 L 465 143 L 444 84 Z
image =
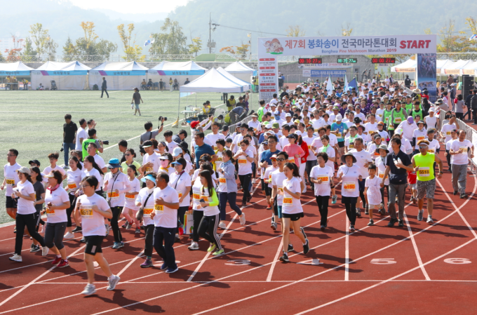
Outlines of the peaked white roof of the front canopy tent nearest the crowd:
M 234 77 L 234 79 L 236 78 Z M 180 92 L 240 93 L 248 89 L 249 86 L 246 82 L 239 83 L 212 68 L 191 83 L 180 86 Z

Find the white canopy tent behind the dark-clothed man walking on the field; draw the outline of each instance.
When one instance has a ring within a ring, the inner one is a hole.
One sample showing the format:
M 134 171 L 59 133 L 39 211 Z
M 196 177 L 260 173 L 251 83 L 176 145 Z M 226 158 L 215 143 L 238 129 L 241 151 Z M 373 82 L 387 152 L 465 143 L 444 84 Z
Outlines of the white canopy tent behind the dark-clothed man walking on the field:
M 105 62 L 90 70 L 89 86 L 93 90 L 95 84 L 101 89 L 102 78 L 107 81 L 108 90 L 132 90 L 140 88 L 143 79 L 147 79 L 147 67 L 135 61 Z

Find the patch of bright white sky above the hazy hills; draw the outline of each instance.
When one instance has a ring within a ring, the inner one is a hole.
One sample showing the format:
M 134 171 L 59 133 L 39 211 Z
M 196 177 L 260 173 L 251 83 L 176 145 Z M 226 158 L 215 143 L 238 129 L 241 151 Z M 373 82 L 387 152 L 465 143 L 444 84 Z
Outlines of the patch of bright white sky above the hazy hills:
M 139 6 L 131 5 L 128 0 L 69 0 L 74 6 L 84 9 L 107 8 L 120 13 L 159 13 L 173 11 L 177 6 L 184 6 L 189 0 L 157 1 L 142 0 Z

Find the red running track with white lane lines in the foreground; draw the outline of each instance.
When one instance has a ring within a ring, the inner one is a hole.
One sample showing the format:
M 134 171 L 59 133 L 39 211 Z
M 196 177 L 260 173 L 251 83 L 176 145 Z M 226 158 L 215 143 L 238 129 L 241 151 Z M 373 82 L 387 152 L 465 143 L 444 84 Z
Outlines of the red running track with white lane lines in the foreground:
M 106 277 L 98 267 L 98 294 L 91 297 L 79 294 L 86 285 L 81 234 L 65 241 L 70 267 L 56 269 L 53 255 L 29 253 L 27 237 L 23 262 L 8 260 L 15 234 L 12 226 L 2 227 L 0 314 L 343 314 L 345 307 L 361 314 L 472 313 L 477 306 L 477 182 L 470 172 L 468 178 L 466 200 L 452 195 L 450 173 L 438 180 L 432 225 L 417 221 L 417 206 L 410 204 L 407 227 L 389 228 L 389 217 L 379 214 L 375 226 L 367 227 L 363 212 L 352 234 L 340 198 L 330 205 L 328 229 L 321 232 L 308 191 L 302 197 L 302 225 L 311 250 L 300 253 L 300 241 L 291 234 L 297 251 L 289 253 L 288 264 L 278 261 L 281 234 L 270 229 L 270 211 L 258 190 L 244 210 L 246 227 L 235 213 L 227 215 L 231 223 L 220 230 L 227 255 L 208 255 L 205 241 L 199 242 L 201 250 L 190 252 L 184 239 L 175 244 L 180 267 L 175 274 L 161 272 L 156 253 L 156 267 L 139 267 L 142 234 L 123 232 L 122 250 L 112 250 L 110 235 L 103 253 L 121 282 L 116 290 L 105 290 Z

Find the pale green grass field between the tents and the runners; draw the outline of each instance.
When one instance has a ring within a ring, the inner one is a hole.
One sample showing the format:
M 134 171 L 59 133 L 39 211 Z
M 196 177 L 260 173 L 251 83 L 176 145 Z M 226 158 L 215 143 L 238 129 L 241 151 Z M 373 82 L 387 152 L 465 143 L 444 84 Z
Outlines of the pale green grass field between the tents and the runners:
M 170 126 L 166 127 L 177 118 L 178 91 L 140 93 L 144 100 L 144 104 L 140 105 L 142 116 L 133 116 L 134 111 L 130 108 L 132 91 L 110 91 L 109 99 L 106 95 L 100 98 L 100 91 L 0 91 L 3 100 L 0 105 L 1 165 L 4 166 L 6 163 L 8 149 L 15 148 L 19 152 L 17 161 L 21 166 L 28 166 L 29 160 L 37 159 L 41 162 L 41 170 L 46 168 L 48 154 L 60 152 L 62 147 L 62 126 L 67 113 L 72 114 L 72 121 L 75 123 L 81 118 L 94 119 L 97 122 L 98 139 L 109 140 L 109 146 L 105 146 L 105 152 L 100 154 L 106 162 L 113 157 L 121 156 L 116 145 L 121 139 L 135 138 L 128 141 L 128 147 L 138 149 L 139 138 L 136 137 L 145 132 L 144 124 L 147 121 L 152 121 L 156 128 L 158 117 L 166 116 L 168 121 L 164 130 L 177 132 L 181 128 L 181 126 L 172 129 Z M 203 102 L 210 100 L 212 106 L 216 107 L 223 103 L 220 95 L 220 93 L 199 93 L 197 104 L 201 107 Z M 256 94 L 253 98 L 257 98 Z M 189 95 L 187 104 L 194 105 L 195 101 L 196 95 Z M 182 98 L 181 111 L 187 104 L 186 98 Z M 255 107 L 253 109 L 256 110 Z M 183 119 L 182 114 L 180 119 Z M 189 127 L 186 130 L 189 130 Z M 137 157 L 137 161 L 142 162 L 141 156 Z M 58 165 L 63 163 L 64 158 L 60 152 Z M 0 173 L 3 181 L 3 167 Z M 1 192 L 0 223 L 11 220 L 5 211 L 5 194 Z

